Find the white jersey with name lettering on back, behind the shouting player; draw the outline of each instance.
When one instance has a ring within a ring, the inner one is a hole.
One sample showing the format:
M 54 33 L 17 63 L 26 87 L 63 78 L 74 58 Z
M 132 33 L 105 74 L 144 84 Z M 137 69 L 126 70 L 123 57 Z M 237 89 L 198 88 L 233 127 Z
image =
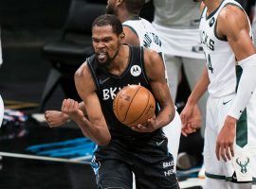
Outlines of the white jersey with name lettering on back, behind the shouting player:
M 156 34 L 157 31 L 155 30 L 155 27 L 147 20 L 143 18 L 128 20 L 122 23 L 122 26 L 128 26 L 137 33 L 140 46 L 150 48 L 158 53 L 163 52 L 161 47 L 162 42 Z

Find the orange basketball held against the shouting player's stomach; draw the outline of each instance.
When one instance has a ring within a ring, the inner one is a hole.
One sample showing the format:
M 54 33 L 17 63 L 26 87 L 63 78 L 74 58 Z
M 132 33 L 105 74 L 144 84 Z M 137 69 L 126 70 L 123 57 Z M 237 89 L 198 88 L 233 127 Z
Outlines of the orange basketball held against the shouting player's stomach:
M 155 98 L 145 87 L 129 85 L 116 95 L 113 110 L 122 124 L 134 127 L 154 116 Z

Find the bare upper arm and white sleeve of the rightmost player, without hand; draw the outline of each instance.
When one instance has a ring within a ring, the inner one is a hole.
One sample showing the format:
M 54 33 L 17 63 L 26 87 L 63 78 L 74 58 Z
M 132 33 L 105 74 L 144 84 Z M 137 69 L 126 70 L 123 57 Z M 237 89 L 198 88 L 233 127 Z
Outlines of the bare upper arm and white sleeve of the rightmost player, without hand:
M 239 119 L 244 112 L 256 88 L 256 52 L 249 33 L 250 26 L 243 9 L 227 6 L 220 12 L 217 34 L 227 37 L 239 65 L 243 68 L 237 95 L 229 111 L 229 115 L 235 119 Z

